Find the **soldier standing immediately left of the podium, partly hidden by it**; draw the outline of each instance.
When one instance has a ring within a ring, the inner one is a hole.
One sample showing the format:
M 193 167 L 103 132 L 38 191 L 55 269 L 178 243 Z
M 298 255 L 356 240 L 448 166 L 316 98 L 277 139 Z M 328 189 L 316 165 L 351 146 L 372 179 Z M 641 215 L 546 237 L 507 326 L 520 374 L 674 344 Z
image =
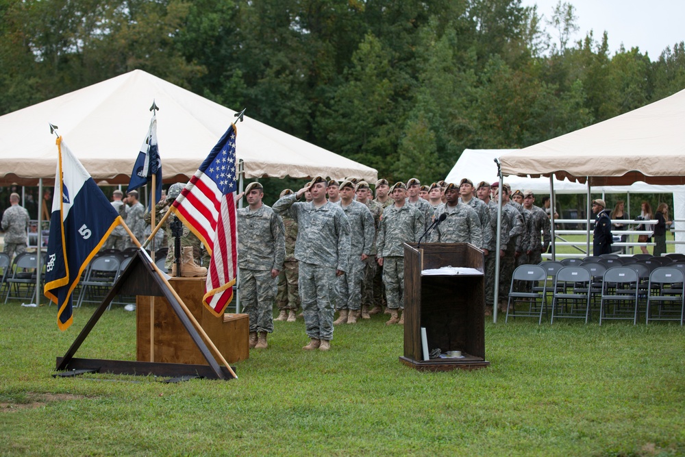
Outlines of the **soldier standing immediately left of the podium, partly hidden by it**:
M 386 325 L 404 323 L 398 310 L 403 310 L 404 247 L 402 243 L 415 243 L 421 238 L 425 227 L 423 212 L 406 203 L 407 186 L 397 182 L 391 190 L 395 204 L 383 210 L 380 230 L 376 240 L 378 264 L 383 267 L 383 283 L 390 308 L 390 320 Z

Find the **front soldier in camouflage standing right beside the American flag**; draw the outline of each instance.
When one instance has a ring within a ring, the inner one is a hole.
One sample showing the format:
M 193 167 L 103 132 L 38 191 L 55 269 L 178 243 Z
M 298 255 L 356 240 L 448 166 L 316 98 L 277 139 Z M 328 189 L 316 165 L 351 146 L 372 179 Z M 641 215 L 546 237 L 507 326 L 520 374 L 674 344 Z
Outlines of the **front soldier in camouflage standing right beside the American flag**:
M 242 197 L 242 194 L 238 197 Z M 245 188 L 249 206 L 236 211 L 238 223 L 238 293 L 250 319 L 250 347 L 266 349 L 273 332 L 273 300 L 278 273 L 283 269 L 286 242 L 281 217 L 262 203 L 262 184 Z

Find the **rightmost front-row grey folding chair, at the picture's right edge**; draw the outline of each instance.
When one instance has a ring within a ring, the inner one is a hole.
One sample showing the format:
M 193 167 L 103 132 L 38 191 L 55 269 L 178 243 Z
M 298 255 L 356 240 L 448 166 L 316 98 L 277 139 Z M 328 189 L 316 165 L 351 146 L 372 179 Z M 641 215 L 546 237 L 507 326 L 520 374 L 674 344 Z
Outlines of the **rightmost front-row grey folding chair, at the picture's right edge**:
M 647 317 L 649 321 L 685 320 L 685 273 L 680 269 L 660 267 L 649 275 Z M 651 306 L 656 307 L 656 317 L 649 317 Z

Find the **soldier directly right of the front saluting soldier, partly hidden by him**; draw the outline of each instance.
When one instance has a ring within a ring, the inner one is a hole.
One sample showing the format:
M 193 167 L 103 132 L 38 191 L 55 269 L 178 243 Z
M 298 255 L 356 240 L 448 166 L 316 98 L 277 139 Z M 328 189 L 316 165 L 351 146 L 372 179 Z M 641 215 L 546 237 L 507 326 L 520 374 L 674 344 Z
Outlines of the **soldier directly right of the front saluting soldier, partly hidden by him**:
M 340 184 L 340 206 L 350 225 L 350 251 L 347 273 L 338 276 L 338 310 L 340 317 L 333 324 L 357 323 L 362 307 L 364 260 L 371 256 L 375 225 L 371 211 L 364 203 L 354 201 L 355 187 L 350 181 Z

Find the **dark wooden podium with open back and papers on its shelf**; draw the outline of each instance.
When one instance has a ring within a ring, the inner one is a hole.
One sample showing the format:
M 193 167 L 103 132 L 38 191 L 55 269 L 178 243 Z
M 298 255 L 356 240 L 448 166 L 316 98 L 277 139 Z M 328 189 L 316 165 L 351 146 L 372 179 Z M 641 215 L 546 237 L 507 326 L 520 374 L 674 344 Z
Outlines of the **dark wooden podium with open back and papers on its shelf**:
M 423 275 L 427 269 L 469 267 L 477 274 Z M 487 367 L 483 251 L 467 243 L 404 244 L 404 356 L 421 371 Z M 421 328 L 429 351 L 462 351 L 462 358 L 423 360 Z

